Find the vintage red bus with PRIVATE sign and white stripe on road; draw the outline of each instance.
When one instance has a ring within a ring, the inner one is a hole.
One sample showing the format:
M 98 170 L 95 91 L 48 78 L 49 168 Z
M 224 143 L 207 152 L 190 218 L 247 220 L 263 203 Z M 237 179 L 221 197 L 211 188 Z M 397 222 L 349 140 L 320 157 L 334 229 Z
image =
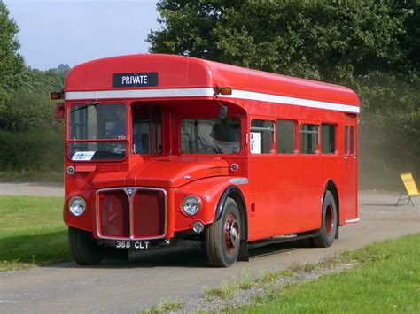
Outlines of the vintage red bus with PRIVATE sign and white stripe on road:
M 359 220 L 359 100 L 345 87 L 193 57 L 75 66 L 64 220 L 79 264 L 115 251 L 206 246 L 211 264 L 265 240 L 329 247 Z

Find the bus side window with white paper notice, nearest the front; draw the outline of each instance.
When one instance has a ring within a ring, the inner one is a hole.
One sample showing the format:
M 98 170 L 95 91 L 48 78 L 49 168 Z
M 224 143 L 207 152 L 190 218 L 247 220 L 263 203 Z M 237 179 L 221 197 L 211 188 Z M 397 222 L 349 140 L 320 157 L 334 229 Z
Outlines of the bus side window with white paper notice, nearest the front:
M 251 154 L 270 154 L 273 152 L 274 122 L 251 121 Z

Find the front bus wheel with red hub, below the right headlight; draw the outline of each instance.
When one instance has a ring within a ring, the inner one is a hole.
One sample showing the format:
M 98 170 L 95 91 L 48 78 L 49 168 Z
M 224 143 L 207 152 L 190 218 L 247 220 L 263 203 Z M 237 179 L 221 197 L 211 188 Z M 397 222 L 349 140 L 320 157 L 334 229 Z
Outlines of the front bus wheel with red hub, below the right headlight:
M 241 220 L 237 203 L 227 198 L 222 217 L 206 229 L 206 250 L 210 264 L 229 267 L 237 261 L 241 243 Z

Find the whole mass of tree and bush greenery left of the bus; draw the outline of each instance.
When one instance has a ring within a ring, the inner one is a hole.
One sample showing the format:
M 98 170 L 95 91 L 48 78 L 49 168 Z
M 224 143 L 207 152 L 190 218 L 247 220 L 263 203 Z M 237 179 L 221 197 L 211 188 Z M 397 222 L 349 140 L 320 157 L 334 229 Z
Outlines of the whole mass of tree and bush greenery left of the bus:
M 68 65 L 40 71 L 19 56 L 18 27 L 0 0 L 0 172 L 57 172 L 63 122 L 54 119 L 50 92 L 64 86 Z

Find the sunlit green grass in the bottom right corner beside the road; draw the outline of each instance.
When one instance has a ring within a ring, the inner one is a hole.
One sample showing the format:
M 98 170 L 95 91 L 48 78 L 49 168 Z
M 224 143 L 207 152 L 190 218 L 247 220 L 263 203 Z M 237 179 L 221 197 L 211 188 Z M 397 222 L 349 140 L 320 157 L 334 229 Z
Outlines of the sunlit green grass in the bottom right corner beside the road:
M 258 298 L 261 304 L 239 311 L 420 313 L 420 234 L 347 251 L 330 263 L 358 266 L 318 280 L 272 289 Z

